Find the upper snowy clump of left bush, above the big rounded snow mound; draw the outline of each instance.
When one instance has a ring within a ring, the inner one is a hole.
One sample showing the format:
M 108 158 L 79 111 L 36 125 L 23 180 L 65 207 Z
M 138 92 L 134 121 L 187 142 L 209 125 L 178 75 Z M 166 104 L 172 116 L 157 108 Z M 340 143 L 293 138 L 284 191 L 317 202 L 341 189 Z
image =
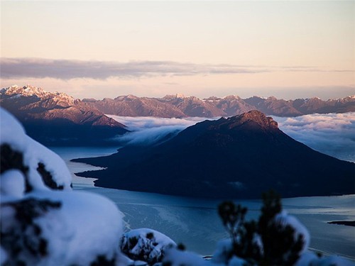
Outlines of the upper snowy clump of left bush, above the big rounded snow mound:
M 23 173 L 26 192 L 33 189 L 70 190 L 72 176 L 65 162 L 26 135 L 16 118 L 0 109 L 1 174 L 17 169 Z

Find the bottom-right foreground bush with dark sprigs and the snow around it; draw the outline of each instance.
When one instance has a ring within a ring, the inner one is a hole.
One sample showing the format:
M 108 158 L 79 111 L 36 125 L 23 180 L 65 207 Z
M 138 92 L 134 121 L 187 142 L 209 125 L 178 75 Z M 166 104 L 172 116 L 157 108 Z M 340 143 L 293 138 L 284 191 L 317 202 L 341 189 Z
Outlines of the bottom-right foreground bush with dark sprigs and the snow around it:
M 258 221 L 246 221 L 247 209 L 224 201 L 219 215 L 230 238 L 220 241 L 211 260 L 178 248 L 166 250 L 166 266 L 246 266 L 354 265 L 339 257 L 320 257 L 307 250 L 310 235 L 294 216 L 282 210 L 280 197 L 269 192 L 263 195 L 263 207 Z

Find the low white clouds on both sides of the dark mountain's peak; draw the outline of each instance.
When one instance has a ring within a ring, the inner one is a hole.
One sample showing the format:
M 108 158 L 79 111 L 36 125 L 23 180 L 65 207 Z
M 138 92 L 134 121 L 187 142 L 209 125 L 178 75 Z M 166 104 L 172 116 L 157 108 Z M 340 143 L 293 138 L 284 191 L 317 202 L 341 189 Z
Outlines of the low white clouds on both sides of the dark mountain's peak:
M 133 131 L 120 138 L 131 144 L 158 143 L 205 118 L 110 116 Z M 355 113 L 312 114 L 293 118 L 273 116 L 279 128 L 310 148 L 355 162 Z

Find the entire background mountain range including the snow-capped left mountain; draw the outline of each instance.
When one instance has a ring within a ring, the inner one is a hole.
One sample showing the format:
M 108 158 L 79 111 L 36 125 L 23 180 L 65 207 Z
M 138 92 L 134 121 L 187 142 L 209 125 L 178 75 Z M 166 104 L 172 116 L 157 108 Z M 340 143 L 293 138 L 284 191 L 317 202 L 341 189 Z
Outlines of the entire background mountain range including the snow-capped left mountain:
M 111 145 L 114 136 L 124 134 L 128 129 L 105 114 L 214 118 L 236 116 L 251 110 L 275 116 L 344 113 L 355 111 L 355 96 L 328 101 L 319 98 L 286 101 L 272 96 L 241 99 L 231 95 L 199 99 L 175 94 L 163 98 L 126 95 L 115 99 L 80 100 L 31 85 L 13 85 L 0 90 L 0 104 L 23 123 L 28 135 L 45 145 Z

